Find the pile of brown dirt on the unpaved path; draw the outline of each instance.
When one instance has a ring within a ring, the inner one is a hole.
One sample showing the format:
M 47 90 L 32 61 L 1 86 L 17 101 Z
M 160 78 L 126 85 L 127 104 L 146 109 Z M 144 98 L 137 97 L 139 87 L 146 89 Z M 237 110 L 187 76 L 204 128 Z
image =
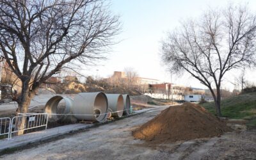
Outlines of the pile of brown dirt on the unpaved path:
M 164 109 L 152 120 L 132 132 L 135 138 L 154 143 L 220 136 L 231 131 L 204 108 L 191 103 Z

